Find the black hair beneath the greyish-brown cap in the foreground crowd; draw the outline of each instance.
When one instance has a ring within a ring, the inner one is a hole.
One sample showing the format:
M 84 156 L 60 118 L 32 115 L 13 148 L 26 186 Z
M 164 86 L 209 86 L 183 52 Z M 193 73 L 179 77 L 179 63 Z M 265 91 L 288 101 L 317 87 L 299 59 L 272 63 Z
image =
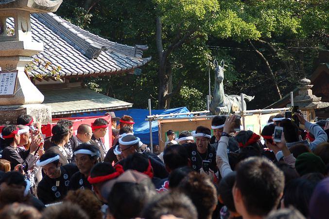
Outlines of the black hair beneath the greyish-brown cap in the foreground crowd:
M 131 219 L 141 216 L 144 206 L 152 201 L 155 190 L 151 182 L 148 185 L 118 182 L 108 195 L 108 210 L 115 219 Z M 129 198 L 127 198 L 129 197 Z

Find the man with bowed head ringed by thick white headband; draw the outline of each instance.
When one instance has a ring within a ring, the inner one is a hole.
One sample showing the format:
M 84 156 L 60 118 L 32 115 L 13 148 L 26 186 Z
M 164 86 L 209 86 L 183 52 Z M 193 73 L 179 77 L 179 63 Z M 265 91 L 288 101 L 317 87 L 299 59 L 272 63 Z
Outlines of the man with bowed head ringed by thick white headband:
M 126 135 L 119 139 L 119 148 L 121 151 L 121 155 L 123 158 L 128 157 L 129 155 L 133 155 L 135 153 L 142 153 L 139 147 L 139 138 L 134 135 Z M 149 152 L 143 152 L 144 155 L 146 155 L 151 162 L 151 166 L 153 169 L 154 177 L 164 179 L 168 177 L 168 172 L 164 166 L 164 164 L 161 162 L 161 160 L 152 153 Z M 119 162 L 119 164 L 124 163 L 124 159 Z

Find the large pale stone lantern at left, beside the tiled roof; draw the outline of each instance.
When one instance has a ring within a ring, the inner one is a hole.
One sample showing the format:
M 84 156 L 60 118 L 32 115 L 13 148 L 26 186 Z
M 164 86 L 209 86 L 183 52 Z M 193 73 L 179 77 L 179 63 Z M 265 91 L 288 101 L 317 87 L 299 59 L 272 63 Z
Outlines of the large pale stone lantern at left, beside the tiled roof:
M 33 55 L 43 51 L 42 42 L 32 41 L 31 13 L 55 12 L 62 0 L 0 1 L 0 67 L 2 72 L 17 70 L 16 92 L 0 96 L 0 125 L 16 123 L 20 114 L 31 114 L 37 120 L 51 122 L 51 109 L 41 103 L 44 96 L 24 73 Z M 7 30 L 6 21 L 14 21 L 14 30 Z

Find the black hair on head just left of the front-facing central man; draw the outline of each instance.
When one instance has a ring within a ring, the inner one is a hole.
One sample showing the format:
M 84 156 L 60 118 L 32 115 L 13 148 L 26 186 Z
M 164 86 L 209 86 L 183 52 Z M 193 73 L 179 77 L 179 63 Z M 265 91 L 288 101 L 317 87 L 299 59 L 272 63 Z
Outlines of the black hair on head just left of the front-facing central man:
M 171 170 L 174 170 L 181 166 L 187 166 L 189 155 L 185 146 L 172 145 L 163 151 L 163 161 Z

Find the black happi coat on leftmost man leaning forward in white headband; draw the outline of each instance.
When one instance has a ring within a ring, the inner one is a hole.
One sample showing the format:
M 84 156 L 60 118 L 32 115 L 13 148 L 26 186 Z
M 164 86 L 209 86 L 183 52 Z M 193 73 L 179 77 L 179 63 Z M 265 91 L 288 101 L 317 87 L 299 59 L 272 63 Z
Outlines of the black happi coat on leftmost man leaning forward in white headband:
M 79 171 L 75 164 L 61 166 L 61 176 L 51 179 L 45 175 L 37 186 L 37 196 L 45 204 L 61 201 L 69 191 L 69 180 L 74 173 Z M 58 186 L 56 186 L 56 182 Z

